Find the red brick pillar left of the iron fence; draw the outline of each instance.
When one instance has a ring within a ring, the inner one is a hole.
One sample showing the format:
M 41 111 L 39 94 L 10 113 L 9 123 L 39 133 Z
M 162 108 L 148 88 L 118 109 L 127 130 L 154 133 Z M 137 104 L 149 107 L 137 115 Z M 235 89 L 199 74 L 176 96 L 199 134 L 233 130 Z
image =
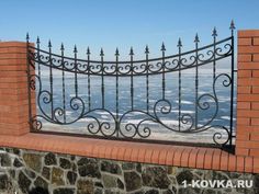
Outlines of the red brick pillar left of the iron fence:
M 26 43 L 0 42 L 0 135 L 29 128 Z

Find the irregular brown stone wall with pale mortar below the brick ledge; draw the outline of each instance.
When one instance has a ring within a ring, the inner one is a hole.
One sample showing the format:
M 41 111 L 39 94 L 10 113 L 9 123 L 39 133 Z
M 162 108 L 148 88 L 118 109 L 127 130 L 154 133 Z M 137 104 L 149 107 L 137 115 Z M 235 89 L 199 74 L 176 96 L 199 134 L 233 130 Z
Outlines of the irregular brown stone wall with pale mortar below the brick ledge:
M 259 193 L 259 174 L 112 161 L 0 148 L 2 194 L 224 194 Z M 254 180 L 254 189 L 184 189 L 187 180 Z

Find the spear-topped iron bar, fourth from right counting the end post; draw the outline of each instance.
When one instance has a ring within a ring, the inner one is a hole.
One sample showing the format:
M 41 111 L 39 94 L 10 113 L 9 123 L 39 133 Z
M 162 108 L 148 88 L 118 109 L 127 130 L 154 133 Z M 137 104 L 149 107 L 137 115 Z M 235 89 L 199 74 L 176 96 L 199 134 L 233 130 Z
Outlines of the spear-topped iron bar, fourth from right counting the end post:
M 179 64 L 178 64 L 178 127 L 179 127 L 179 132 L 181 130 L 181 47 L 182 47 L 182 43 L 181 39 L 179 38 L 178 41 L 178 50 L 179 50 Z

